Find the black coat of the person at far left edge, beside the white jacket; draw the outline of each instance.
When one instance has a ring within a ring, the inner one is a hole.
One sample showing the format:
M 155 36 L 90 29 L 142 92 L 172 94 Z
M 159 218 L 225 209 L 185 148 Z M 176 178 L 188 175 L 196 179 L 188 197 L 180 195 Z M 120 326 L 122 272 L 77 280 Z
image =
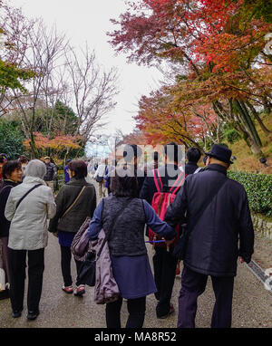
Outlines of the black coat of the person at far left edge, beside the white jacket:
M 10 221 L 5 218 L 5 205 L 10 190 L 17 184 L 12 180 L 4 180 L 0 187 L 0 237 L 8 236 Z

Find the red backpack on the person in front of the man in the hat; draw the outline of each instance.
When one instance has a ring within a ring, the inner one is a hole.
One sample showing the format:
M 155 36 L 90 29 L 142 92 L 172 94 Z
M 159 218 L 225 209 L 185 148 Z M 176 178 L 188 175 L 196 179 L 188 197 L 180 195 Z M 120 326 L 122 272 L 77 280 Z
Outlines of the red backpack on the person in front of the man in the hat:
M 178 190 L 180 189 L 180 187 L 184 183 L 184 179 L 186 176 L 185 176 L 184 172 L 181 172 L 179 177 L 174 182 L 173 186 L 170 188 L 170 191 L 169 192 L 163 192 L 163 185 L 162 185 L 162 181 L 160 178 L 159 169 L 154 169 L 153 174 L 154 174 L 154 183 L 157 187 L 157 192 L 154 194 L 154 196 L 152 198 L 151 206 L 155 210 L 156 214 L 160 217 L 160 220 L 163 221 L 167 208 L 170 206 L 170 204 L 175 199 L 175 197 L 178 193 Z M 177 232 L 177 235 L 176 235 L 175 241 L 172 245 L 175 245 L 179 239 L 180 225 L 177 225 L 175 230 Z M 154 241 L 154 240 L 160 240 L 160 239 L 161 239 L 160 235 L 155 234 L 151 230 L 151 228 L 149 228 L 149 240 Z M 156 246 L 165 246 L 165 244 L 164 243 L 158 243 L 158 244 L 156 244 Z

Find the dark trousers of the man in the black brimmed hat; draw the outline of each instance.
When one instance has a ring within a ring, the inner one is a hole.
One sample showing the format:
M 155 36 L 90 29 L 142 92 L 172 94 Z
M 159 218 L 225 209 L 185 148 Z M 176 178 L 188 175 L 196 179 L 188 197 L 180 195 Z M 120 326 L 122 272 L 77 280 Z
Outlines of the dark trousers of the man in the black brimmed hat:
M 178 328 L 194 328 L 198 309 L 198 297 L 205 291 L 208 275 L 199 274 L 184 265 L 181 275 L 181 290 L 179 298 Z M 230 328 L 233 276 L 211 276 L 212 288 L 215 293 L 211 328 Z

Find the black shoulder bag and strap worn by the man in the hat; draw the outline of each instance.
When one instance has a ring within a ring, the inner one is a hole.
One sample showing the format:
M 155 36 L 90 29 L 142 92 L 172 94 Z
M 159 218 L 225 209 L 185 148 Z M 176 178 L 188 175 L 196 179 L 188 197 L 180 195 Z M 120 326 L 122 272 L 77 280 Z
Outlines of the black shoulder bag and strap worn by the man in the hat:
M 207 209 L 207 207 L 209 207 L 213 198 L 219 193 L 219 190 L 225 185 L 227 181 L 228 181 L 228 178 L 224 179 L 223 181 L 220 182 L 218 186 L 212 189 L 209 199 L 207 198 L 208 203 L 203 204 L 203 206 L 199 209 L 199 213 L 197 214 L 197 216 L 194 216 L 193 222 L 190 225 L 190 231 L 192 231 L 193 228 L 198 224 L 200 216 L 202 216 L 202 214 Z M 187 224 L 181 225 L 180 228 L 182 232 L 180 232 L 180 238 L 173 249 L 172 255 L 179 260 L 184 260 L 186 255 L 186 249 L 187 249 L 190 231 L 188 229 Z

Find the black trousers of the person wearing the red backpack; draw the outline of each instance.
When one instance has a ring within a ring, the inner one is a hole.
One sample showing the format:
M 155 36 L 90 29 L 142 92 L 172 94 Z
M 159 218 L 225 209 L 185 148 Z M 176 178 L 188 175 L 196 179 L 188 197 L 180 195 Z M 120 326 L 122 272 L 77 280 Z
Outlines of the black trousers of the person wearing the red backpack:
M 164 316 L 170 311 L 170 299 L 178 264 L 178 260 L 171 254 L 172 249 L 168 252 L 166 247 L 155 247 L 153 266 L 155 284 L 158 290 L 158 292 L 155 293 L 159 301 L 156 307 L 158 317 Z

